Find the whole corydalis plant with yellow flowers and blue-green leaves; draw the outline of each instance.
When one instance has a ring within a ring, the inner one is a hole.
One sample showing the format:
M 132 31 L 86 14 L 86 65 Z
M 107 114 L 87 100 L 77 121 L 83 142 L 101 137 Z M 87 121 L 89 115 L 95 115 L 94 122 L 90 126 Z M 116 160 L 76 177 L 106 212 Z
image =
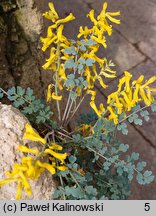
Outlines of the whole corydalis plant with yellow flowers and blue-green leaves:
M 22 158 L 21 164 L 15 164 L 12 172 L 6 173 L 9 178 L 1 180 L 0 186 L 16 182 L 16 198 L 21 199 L 22 190 L 29 196 L 32 194 L 29 180 L 37 180 L 44 170 L 48 170 L 60 181 L 53 198 L 127 199 L 135 173 L 138 183 L 142 185 L 151 183 L 154 176 L 151 171 L 145 170 L 146 162 L 138 161 L 138 153 L 133 152 L 122 159 L 129 145 L 121 143 L 117 133 L 128 133 L 126 119 L 139 125 L 142 124 L 141 118 L 148 121 L 147 107 L 151 106 L 152 111 L 156 111 L 156 89 L 151 87 L 156 76 L 144 81 L 141 75 L 133 80 L 132 75 L 125 71 L 119 79 L 117 91 L 108 96 L 107 105 L 98 104 L 96 83 L 106 89 L 105 79 L 116 77 L 115 65 L 105 57 L 100 58 L 98 51 L 100 46 L 106 49 L 106 36 L 112 35 L 111 23 L 120 24 L 116 18 L 120 12 L 107 12 L 107 3 L 103 4 L 97 17 L 91 10 L 87 17 L 92 27 L 80 26 L 75 41 L 63 35 L 64 25 L 75 19 L 73 14 L 59 18 L 52 3 L 49 3 L 49 8 L 43 16 L 51 20 L 52 25 L 41 41 L 42 51 L 49 49 L 50 56 L 43 68 L 52 72 L 53 82 L 48 86 L 46 101 L 56 101 L 58 122 L 53 121 L 49 107 L 36 101 L 30 89 L 25 91 L 17 87 L 17 92 L 15 88 L 8 92 L 1 89 L 0 97 L 7 95 L 28 117 L 34 115 L 35 123 L 41 128 L 44 125 L 46 133 L 42 138 L 30 125 L 26 125 L 23 138 L 38 141 L 42 148 L 19 146 L 18 150 L 31 156 L 27 155 Z M 63 93 L 68 95 L 68 99 L 61 113 Z M 90 96 L 92 113 L 83 114 L 78 126 L 72 132 L 67 131 L 68 123 L 87 95 Z M 36 109 L 36 102 L 42 110 Z M 141 107 L 139 102 L 145 106 Z M 44 108 L 46 112 L 43 112 Z

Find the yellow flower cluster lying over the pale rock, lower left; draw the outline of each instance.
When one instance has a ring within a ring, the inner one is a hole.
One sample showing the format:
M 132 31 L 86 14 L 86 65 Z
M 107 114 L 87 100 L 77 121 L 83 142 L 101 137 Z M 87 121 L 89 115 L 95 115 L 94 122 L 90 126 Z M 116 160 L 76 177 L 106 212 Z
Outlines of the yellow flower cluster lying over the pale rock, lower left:
M 36 133 L 31 125 L 26 124 L 26 131 L 24 133 L 23 139 L 29 139 L 32 141 L 38 141 L 42 144 L 46 144 L 46 140 L 40 137 Z M 22 191 L 24 190 L 28 196 L 32 195 L 32 189 L 30 185 L 30 180 L 37 180 L 44 170 L 48 170 L 52 175 L 56 173 L 56 169 L 65 171 L 67 167 L 64 165 L 64 160 L 67 157 L 66 153 L 58 153 L 56 151 L 62 150 L 62 146 L 51 143 L 51 145 L 40 152 L 37 149 L 30 149 L 26 146 L 19 146 L 18 150 L 23 153 L 31 153 L 36 155 L 36 159 L 27 156 L 22 158 L 21 164 L 14 164 L 11 172 L 6 172 L 8 178 L 0 180 L 0 187 L 12 182 L 17 183 L 17 193 L 16 199 L 22 198 Z M 42 157 L 42 161 L 40 160 Z M 51 161 L 51 163 L 45 162 L 45 159 Z M 61 165 L 56 164 L 56 159 L 61 162 Z

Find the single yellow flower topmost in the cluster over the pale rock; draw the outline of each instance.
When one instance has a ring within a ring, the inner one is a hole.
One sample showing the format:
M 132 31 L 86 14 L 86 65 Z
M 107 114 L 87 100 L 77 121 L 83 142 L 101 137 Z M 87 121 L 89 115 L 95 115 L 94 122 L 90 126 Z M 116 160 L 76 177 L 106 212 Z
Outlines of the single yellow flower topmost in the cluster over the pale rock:
M 31 125 L 29 123 L 27 123 L 25 125 L 25 129 L 26 130 L 25 130 L 25 133 L 23 135 L 23 140 L 29 139 L 29 140 L 32 140 L 32 141 L 41 142 L 43 144 L 46 143 L 46 140 L 43 139 L 42 137 L 40 137 L 40 135 L 34 131 L 34 129 L 31 127 Z

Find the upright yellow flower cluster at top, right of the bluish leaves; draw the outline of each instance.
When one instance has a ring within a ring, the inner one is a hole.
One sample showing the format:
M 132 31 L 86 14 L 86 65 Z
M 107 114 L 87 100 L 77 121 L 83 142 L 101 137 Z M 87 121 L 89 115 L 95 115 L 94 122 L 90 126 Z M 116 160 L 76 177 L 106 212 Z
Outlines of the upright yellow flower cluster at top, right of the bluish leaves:
M 86 67 L 84 70 L 84 76 L 86 76 L 86 80 L 88 82 L 88 89 L 93 89 L 95 86 L 95 82 L 98 81 L 100 85 L 105 89 L 107 85 L 103 81 L 103 77 L 107 78 L 115 78 L 116 72 L 113 71 L 107 63 L 106 58 L 99 58 L 97 56 L 97 52 L 99 51 L 100 45 L 107 47 L 105 33 L 108 33 L 110 36 L 112 34 L 112 25 L 110 25 L 107 21 L 110 20 L 113 23 L 120 24 L 120 20 L 114 18 L 115 16 L 119 16 L 120 12 L 106 12 L 107 3 L 103 4 L 103 9 L 101 13 L 95 18 L 94 10 L 91 10 L 87 15 L 91 22 L 93 23 L 93 27 L 88 29 L 87 26 L 81 26 L 79 29 L 78 38 L 84 37 L 85 41 L 92 39 L 96 42 L 95 45 L 89 47 L 88 51 L 83 53 L 80 58 L 92 59 L 95 61 L 92 67 Z M 97 66 L 98 64 L 98 66 Z M 97 71 L 100 69 L 100 73 Z M 94 103 L 91 103 L 94 106 Z

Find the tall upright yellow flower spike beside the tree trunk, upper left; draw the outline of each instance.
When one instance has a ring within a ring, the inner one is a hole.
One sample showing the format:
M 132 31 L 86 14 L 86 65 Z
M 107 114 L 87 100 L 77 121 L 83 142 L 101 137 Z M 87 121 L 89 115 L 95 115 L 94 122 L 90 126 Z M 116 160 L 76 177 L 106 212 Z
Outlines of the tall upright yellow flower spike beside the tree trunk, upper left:
M 43 14 L 43 16 L 52 21 L 52 25 L 48 27 L 46 38 L 41 37 L 43 43 L 42 51 L 45 52 L 50 46 L 50 56 L 46 59 L 46 63 L 42 66 L 45 70 L 52 70 L 57 72 L 57 87 L 62 90 L 62 81 L 66 80 L 66 74 L 64 69 L 64 64 L 61 63 L 62 60 L 67 60 L 68 55 L 65 55 L 63 50 L 70 46 L 69 40 L 63 35 L 64 24 L 75 19 L 72 13 L 70 13 L 66 18 L 59 19 L 59 16 L 54 8 L 53 3 L 49 3 L 50 10 Z M 54 78 L 56 80 L 56 77 Z M 47 101 L 51 99 L 61 100 L 56 92 L 51 94 L 51 84 L 48 86 Z

